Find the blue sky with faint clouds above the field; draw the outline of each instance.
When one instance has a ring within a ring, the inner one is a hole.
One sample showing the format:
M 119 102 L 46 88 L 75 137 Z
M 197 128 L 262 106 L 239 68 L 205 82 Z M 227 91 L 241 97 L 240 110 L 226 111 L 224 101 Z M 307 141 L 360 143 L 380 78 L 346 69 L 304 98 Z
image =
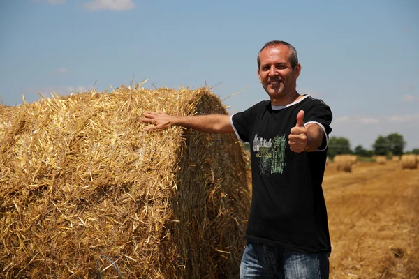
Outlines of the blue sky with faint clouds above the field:
M 332 107 L 331 136 L 371 149 L 400 133 L 419 148 L 419 1 L 3 0 L 0 96 L 147 87 L 213 91 L 230 113 L 267 99 L 256 55 L 297 49 L 297 90 Z M 218 85 L 217 85 L 218 84 Z M 243 91 L 244 90 L 244 91 Z M 242 93 L 231 96 L 233 93 Z

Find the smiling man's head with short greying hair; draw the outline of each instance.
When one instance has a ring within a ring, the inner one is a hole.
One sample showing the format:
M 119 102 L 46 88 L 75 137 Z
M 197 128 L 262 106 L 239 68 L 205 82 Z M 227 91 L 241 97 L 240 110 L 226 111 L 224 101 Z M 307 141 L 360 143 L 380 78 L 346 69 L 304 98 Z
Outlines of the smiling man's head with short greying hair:
M 286 105 L 297 98 L 301 65 L 295 48 L 280 40 L 266 43 L 258 54 L 258 77 L 273 105 Z

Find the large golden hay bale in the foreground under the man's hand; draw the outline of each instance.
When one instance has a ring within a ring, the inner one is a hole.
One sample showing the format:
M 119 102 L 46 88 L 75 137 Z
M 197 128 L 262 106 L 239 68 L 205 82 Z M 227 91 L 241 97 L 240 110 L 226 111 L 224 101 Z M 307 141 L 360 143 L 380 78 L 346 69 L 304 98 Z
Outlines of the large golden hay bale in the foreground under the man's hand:
M 242 146 L 233 134 L 145 133 L 147 110 L 226 114 L 207 88 L 140 85 L 0 107 L 3 276 L 238 276 Z

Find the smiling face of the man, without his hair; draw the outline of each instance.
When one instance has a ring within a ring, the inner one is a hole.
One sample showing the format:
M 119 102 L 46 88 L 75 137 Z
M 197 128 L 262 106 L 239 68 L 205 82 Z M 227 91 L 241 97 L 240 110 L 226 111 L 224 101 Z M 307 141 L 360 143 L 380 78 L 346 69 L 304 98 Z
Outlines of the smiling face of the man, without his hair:
M 259 54 L 258 77 L 272 101 L 284 100 L 295 94 L 301 66 L 298 64 L 291 68 L 290 55 L 291 50 L 286 45 L 266 47 Z

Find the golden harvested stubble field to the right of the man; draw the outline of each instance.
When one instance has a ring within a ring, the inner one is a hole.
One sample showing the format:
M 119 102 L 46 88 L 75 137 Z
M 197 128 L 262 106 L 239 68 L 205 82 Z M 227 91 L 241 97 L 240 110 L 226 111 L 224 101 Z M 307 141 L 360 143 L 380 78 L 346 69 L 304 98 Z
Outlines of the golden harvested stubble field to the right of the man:
M 400 162 L 326 167 L 330 278 L 419 278 L 419 171 Z

